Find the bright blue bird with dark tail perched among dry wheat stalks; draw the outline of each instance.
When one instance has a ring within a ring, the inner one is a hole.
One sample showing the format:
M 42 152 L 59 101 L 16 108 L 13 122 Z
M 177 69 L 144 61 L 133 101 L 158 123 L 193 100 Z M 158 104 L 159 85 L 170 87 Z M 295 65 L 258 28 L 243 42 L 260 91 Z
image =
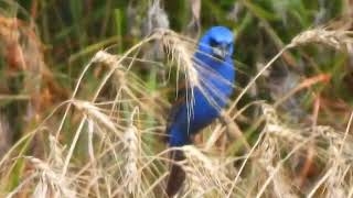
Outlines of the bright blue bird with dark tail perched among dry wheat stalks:
M 233 51 L 234 35 L 227 28 L 213 26 L 201 37 L 193 56 L 199 84 L 186 87 L 184 95 L 189 96 L 188 99 L 172 107 L 167 127 L 170 146 L 191 144 L 191 135 L 220 117 L 221 109 L 233 92 Z M 171 157 L 174 161 L 185 158 L 180 150 L 173 151 Z M 178 193 L 184 179 L 182 167 L 173 164 L 167 185 L 169 197 Z

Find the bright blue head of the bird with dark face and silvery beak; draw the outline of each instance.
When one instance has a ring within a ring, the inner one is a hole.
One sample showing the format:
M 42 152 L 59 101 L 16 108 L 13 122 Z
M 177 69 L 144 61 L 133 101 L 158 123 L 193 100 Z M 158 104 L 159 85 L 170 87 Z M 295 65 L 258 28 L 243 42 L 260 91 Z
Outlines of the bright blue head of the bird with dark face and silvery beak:
M 200 40 L 199 51 L 225 59 L 233 54 L 234 35 L 225 26 L 211 28 Z

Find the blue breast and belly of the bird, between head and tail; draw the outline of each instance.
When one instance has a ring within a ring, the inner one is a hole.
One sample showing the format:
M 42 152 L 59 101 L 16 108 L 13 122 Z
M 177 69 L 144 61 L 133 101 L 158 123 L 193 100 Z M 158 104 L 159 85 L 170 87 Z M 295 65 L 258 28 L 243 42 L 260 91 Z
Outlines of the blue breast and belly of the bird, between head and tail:
M 194 100 L 179 107 L 169 131 L 172 146 L 189 144 L 190 134 L 197 133 L 217 118 L 233 91 L 235 70 L 231 57 L 221 62 L 196 53 L 195 58 L 202 61 L 196 67 L 201 88 L 189 89 L 188 96 L 191 98 L 193 92 Z

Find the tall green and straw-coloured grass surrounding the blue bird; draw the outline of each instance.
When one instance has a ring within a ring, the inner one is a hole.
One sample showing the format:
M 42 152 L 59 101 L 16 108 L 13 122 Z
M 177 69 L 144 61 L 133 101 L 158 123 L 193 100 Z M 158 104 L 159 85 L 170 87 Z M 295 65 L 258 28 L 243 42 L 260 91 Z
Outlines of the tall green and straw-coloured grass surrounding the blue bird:
M 181 15 L 190 11 L 197 20 L 197 2 L 87 1 L 85 8 L 72 1 L 64 10 L 55 1 L 26 1 L 31 13 L 1 2 L 19 9 L 0 15 L 7 24 L 0 28 L 7 46 L 0 100 L 14 114 L 0 119 L 0 134 L 14 141 L 0 145 L 0 196 L 161 197 L 171 163 L 186 172 L 179 197 L 352 196 L 346 81 L 353 34 L 342 6 L 349 1 L 202 1 L 203 26 L 221 23 L 237 33 L 236 94 L 222 122 L 179 148 L 162 141 L 175 97 L 170 87 L 182 79 L 212 88 L 195 69 L 197 40 L 165 29 L 165 20 L 194 35 Z M 174 6 L 182 8 L 175 7 L 180 19 Z M 94 12 L 85 16 L 87 11 Z M 126 25 L 131 11 L 148 14 L 152 28 L 131 37 L 146 23 L 137 18 Z M 24 20 L 30 15 L 36 18 L 32 24 Z M 336 16 L 343 23 L 328 22 Z M 299 80 L 288 80 L 292 75 Z M 172 150 L 182 150 L 185 161 L 171 162 Z

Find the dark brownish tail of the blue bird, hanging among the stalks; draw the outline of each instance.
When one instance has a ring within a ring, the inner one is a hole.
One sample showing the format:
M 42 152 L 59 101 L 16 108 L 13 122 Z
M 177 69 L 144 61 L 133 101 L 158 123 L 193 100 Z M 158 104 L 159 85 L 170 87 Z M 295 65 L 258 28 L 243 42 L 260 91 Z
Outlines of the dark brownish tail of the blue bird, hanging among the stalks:
M 165 193 L 167 193 L 168 197 L 173 197 L 179 191 L 179 189 L 183 185 L 183 183 L 185 180 L 185 176 L 186 176 L 183 168 L 179 164 L 175 163 L 178 161 L 185 160 L 185 155 L 184 155 L 183 151 L 180 151 L 180 150 L 172 151 L 171 152 L 171 160 L 174 163 L 171 165 L 170 174 L 169 174 L 169 178 L 168 178 L 168 184 L 167 184 Z

